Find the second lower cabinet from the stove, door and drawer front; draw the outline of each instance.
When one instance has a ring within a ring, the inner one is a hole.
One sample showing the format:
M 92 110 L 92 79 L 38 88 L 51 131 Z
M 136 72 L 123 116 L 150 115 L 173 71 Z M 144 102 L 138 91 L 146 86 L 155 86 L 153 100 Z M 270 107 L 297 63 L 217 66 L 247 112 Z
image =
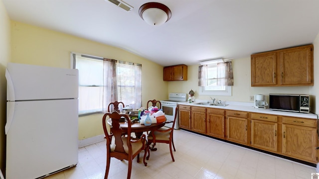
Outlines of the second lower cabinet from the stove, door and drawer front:
M 191 130 L 206 133 L 206 108 L 191 106 Z

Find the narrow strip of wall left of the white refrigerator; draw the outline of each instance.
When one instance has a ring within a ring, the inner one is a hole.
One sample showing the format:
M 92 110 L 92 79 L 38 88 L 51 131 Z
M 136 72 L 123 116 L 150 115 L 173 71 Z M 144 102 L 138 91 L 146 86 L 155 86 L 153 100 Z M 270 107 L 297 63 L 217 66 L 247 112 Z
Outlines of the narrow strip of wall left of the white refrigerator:
M 6 118 L 6 80 L 5 67 L 10 59 L 10 19 L 2 0 L 0 0 L 0 169 L 5 171 L 5 135 Z

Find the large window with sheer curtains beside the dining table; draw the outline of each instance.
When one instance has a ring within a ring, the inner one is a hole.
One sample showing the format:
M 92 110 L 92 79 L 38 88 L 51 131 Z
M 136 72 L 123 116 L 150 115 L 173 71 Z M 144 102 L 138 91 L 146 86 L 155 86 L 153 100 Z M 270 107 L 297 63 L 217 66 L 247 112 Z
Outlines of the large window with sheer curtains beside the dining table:
M 141 64 L 79 54 L 71 63 L 79 70 L 79 115 L 106 112 L 115 100 L 141 107 Z

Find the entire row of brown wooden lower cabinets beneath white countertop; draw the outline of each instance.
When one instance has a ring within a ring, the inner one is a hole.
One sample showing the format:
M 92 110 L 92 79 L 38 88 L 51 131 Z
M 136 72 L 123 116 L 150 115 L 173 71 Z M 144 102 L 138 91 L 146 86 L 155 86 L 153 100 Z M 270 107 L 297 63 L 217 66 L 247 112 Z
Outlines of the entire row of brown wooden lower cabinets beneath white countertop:
M 317 119 L 179 105 L 180 128 L 317 164 Z

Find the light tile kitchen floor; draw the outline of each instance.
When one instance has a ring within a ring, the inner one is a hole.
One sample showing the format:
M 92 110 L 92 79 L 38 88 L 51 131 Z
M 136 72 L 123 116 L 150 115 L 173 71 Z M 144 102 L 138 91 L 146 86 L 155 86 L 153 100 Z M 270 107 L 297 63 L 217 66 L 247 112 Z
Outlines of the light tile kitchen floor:
M 157 144 L 148 166 L 133 161 L 132 179 L 311 179 L 316 168 L 250 149 L 203 137 L 183 130 L 174 131 L 172 162 L 167 144 Z M 141 153 L 143 160 L 144 152 Z M 45 179 L 104 179 L 105 142 L 79 149 L 76 167 Z M 111 160 L 109 179 L 127 178 L 127 161 Z

